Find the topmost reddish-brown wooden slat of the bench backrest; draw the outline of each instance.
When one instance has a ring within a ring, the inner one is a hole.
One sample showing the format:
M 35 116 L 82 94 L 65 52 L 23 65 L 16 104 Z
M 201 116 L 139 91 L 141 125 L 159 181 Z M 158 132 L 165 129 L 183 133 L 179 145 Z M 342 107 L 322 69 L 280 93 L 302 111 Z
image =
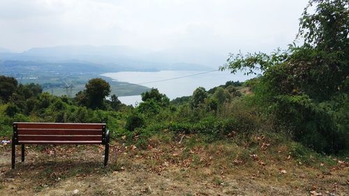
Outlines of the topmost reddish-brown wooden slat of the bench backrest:
M 17 128 L 103 129 L 105 123 L 14 123 Z

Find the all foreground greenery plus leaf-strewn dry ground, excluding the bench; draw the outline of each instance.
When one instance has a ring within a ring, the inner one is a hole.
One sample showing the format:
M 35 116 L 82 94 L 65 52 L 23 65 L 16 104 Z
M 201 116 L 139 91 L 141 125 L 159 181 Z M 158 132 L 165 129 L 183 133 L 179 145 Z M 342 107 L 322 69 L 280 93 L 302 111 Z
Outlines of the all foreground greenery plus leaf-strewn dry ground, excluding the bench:
M 68 98 L 0 76 L 1 139 L 10 139 L 14 121 L 107 123 L 112 137 L 106 168 L 93 162 L 99 146 L 29 146 L 18 170 L 6 171 L 10 159 L 1 156 L 8 164 L 0 189 L 64 195 L 49 193 L 84 182 L 82 195 L 346 195 L 348 14 L 346 0 L 310 1 L 300 20 L 303 45 L 231 54 L 221 68 L 262 75 L 171 101 L 149 89 L 137 107 L 124 105 L 104 78 Z

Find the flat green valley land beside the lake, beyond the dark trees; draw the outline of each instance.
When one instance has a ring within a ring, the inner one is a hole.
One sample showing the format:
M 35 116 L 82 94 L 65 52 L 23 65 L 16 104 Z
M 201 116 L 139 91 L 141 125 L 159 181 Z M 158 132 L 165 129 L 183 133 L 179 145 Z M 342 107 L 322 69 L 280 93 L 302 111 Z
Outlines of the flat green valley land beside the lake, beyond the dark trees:
M 102 72 L 87 73 L 89 70 L 85 70 L 84 68 L 77 73 L 69 73 L 68 70 L 60 69 L 50 71 L 45 71 L 45 69 L 22 70 L 17 67 L 10 67 L 11 71 L 7 71 L 2 70 L 6 68 L 6 66 L 2 66 L 1 63 L 2 61 L 0 61 L 0 73 L 3 73 L 3 75 L 15 77 L 20 84 L 40 84 L 44 92 L 51 93 L 54 96 L 68 96 L 65 88 L 67 86 L 73 87 L 71 89 L 71 96 L 75 96 L 76 93 L 84 90 L 85 84 L 89 80 L 95 77 L 101 77 L 103 80 L 106 80 L 110 84 L 112 93 L 118 96 L 135 96 L 149 90 L 146 86 L 114 81 L 110 77 L 101 76 L 100 74 L 102 74 Z M 36 64 L 34 63 L 33 66 L 36 66 Z M 107 71 L 108 70 L 105 70 L 105 72 Z

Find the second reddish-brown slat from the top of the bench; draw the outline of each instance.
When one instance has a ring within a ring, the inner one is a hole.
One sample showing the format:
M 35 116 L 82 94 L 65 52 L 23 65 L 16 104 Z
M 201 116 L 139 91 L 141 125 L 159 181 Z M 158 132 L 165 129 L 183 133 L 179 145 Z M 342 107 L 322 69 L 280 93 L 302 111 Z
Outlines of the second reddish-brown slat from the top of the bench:
M 101 129 L 33 129 L 19 128 L 18 135 L 102 135 Z

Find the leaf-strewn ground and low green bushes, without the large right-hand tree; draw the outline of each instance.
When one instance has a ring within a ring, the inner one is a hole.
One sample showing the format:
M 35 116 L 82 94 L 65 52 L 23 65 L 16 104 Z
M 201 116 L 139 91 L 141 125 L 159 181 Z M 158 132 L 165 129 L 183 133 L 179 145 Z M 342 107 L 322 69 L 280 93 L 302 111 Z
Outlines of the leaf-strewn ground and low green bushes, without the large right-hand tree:
M 105 168 L 103 146 L 27 146 L 26 160 L 16 169 L 10 169 L 10 145 L 1 146 L 0 190 L 7 195 L 346 195 L 348 157 L 317 153 L 276 130 L 274 119 L 246 105 L 253 95 L 249 85 L 198 88 L 171 103 L 151 89 L 135 109 L 108 103 L 105 110 L 86 110 L 76 100 L 45 93 L 28 116 L 20 111 L 8 116 L 10 105 L 1 105 L 0 140 L 10 139 L 13 121 L 106 122 L 112 144 Z M 196 102 L 202 95 L 206 100 Z M 40 106 L 45 101 L 47 108 Z

